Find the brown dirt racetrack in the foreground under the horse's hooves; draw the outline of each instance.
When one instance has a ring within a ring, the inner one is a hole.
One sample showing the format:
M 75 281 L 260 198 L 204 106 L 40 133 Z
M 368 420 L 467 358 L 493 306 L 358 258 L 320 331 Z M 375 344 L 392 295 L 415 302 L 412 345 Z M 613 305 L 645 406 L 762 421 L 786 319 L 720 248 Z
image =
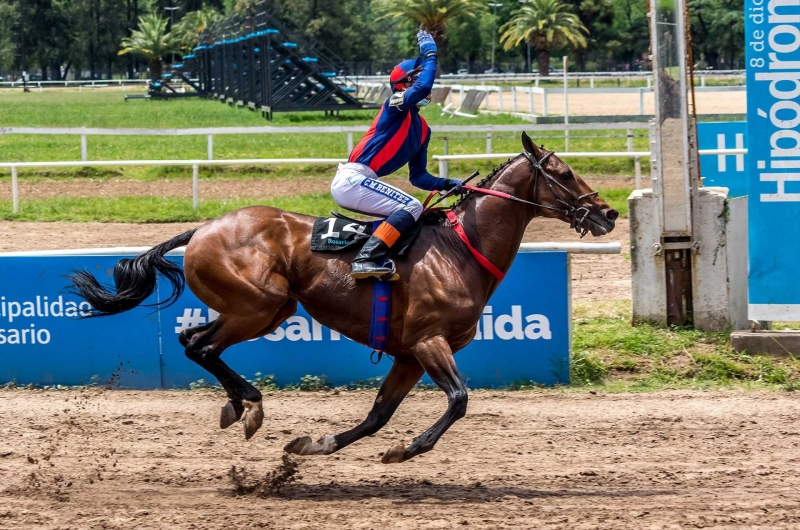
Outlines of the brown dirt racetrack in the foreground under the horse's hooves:
M 473 391 L 466 418 L 403 464 L 380 455 L 443 412 L 392 422 L 268 498 L 232 496 L 296 436 L 359 422 L 372 392 L 265 395 L 249 442 L 222 393 L 0 392 L 0 528 L 798 528 L 800 395 Z

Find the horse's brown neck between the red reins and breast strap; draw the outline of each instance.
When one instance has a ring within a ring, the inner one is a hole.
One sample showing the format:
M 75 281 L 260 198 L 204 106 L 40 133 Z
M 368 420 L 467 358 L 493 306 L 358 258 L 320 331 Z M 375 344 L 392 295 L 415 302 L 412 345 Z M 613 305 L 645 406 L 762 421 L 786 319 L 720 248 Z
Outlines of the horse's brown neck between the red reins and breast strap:
M 521 190 L 515 189 L 509 179 L 502 178 L 503 173 L 513 171 L 519 163 L 512 162 L 486 187 L 519 196 Z M 523 203 L 482 195 L 466 203 L 460 217 L 473 245 L 498 269 L 508 272 L 522 243 L 525 228 L 533 218 L 533 211 Z

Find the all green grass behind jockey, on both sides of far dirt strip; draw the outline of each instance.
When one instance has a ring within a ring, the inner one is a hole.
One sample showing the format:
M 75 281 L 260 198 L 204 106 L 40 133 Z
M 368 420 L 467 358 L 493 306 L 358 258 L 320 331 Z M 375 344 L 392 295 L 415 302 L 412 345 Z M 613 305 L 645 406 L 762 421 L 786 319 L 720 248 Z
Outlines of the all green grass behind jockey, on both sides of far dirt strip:
M 41 93 L 22 93 L 20 91 L 0 91 L 0 127 L 100 127 L 100 128 L 189 128 L 189 127 L 231 127 L 263 126 L 268 123 L 258 113 L 242 109 L 231 109 L 227 105 L 211 100 L 133 100 L 125 102 L 123 94 L 130 90 L 106 89 L 78 92 L 70 89 L 50 89 Z M 369 125 L 375 111 L 346 112 L 339 117 L 326 117 L 321 112 L 276 114 L 274 126 L 331 126 L 331 125 Z M 443 153 L 441 135 L 436 134 L 436 126 L 448 125 L 486 125 L 486 124 L 524 124 L 509 116 L 482 115 L 477 119 L 448 118 L 440 116 L 437 108 L 426 109 L 423 114 L 434 130 L 430 155 Z M 602 136 L 601 138 L 581 138 L 581 133 L 573 132 L 570 148 L 577 150 L 624 150 L 626 138 L 624 131 L 585 131 L 583 134 Z M 636 138 L 634 148 L 646 150 L 647 138 Z M 548 149 L 563 150 L 563 133 L 548 131 L 535 135 L 539 143 Z M 358 141 L 356 134 L 355 141 Z M 132 159 L 192 159 L 206 158 L 207 140 L 205 136 L 89 136 L 88 155 L 90 160 L 132 160 Z M 449 152 L 483 153 L 486 148 L 484 135 L 453 135 L 449 137 Z M 2 135 L 0 134 L 0 161 L 58 161 L 79 160 L 79 136 L 53 135 Z M 518 152 L 518 134 L 493 138 L 495 152 Z M 259 134 L 259 135 L 217 135 L 214 137 L 214 158 L 218 160 L 233 158 L 346 158 L 347 136 L 344 133 L 331 134 Z M 466 175 L 475 169 L 487 174 L 499 161 L 471 161 L 451 163 L 450 175 Z M 593 179 L 603 179 L 603 195 L 623 215 L 627 213 L 627 195 L 630 192 L 633 176 L 633 161 L 623 159 L 582 159 L 576 160 L 573 167 L 590 184 Z M 643 167 L 647 167 L 643 161 Z M 436 164 L 429 163 L 432 173 L 438 172 Z M 315 179 L 328 181 L 335 172 L 334 165 L 282 165 L 217 167 L 203 169 L 201 178 L 209 180 L 243 181 L 243 187 L 258 190 L 258 184 L 273 179 L 292 181 L 294 179 Z M 158 182 L 164 179 L 185 180 L 187 190 L 191 168 L 188 167 L 124 167 L 124 168 L 70 168 L 70 169 L 27 169 L 19 171 L 23 183 L 85 182 L 137 180 L 153 182 L 152 197 L 59 197 L 47 199 L 26 199 L 21 197 L 19 214 L 12 214 L 10 196 L 0 199 L 0 218 L 9 220 L 74 220 L 74 221 L 187 221 L 216 217 L 249 204 L 269 204 L 308 214 L 321 215 L 333 205 L 326 193 L 306 193 L 292 197 L 264 197 L 257 191 L 245 193 L 232 200 L 204 199 L 201 193 L 201 207 L 194 212 L 191 200 L 158 196 Z M 0 186 L 10 181 L 9 170 L 0 170 Z M 251 186 L 252 184 L 252 186 Z M 202 188 L 202 184 L 201 184 Z

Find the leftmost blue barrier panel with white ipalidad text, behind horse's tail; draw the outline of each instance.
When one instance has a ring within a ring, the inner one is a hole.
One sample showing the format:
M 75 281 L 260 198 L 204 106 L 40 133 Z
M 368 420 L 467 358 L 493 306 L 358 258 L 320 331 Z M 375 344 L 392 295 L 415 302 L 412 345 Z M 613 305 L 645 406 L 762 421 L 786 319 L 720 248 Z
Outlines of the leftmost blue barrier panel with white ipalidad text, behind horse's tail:
M 64 293 L 64 275 L 73 269 L 113 283 L 111 270 L 121 257 L 0 258 L 0 384 L 161 386 L 152 308 L 78 320 L 91 306 Z

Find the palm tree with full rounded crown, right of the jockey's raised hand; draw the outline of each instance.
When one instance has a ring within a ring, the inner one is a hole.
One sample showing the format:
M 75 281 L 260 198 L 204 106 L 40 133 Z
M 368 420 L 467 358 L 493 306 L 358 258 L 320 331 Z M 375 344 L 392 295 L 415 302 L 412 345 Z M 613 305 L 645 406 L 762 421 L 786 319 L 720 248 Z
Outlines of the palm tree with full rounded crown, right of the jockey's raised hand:
M 522 42 L 530 42 L 536 49 L 539 75 L 546 76 L 550 69 L 550 49 L 569 42 L 574 47 L 585 47 L 589 30 L 569 7 L 559 0 L 530 0 L 511 12 L 511 20 L 500 26 L 500 42 L 509 50 Z

